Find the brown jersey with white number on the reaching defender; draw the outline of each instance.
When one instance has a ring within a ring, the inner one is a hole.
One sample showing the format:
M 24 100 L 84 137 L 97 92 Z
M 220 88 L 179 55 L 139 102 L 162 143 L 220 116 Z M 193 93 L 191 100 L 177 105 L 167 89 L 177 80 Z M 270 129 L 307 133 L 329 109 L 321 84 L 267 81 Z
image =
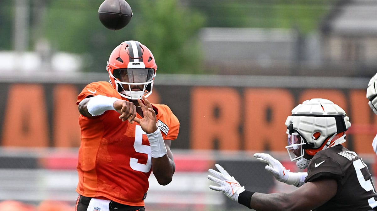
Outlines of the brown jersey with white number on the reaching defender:
M 367 211 L 377 207 L 377 194 L 368 167 L 342 145 L 318 152 L 310 160 L 305 182 L 335 179 L 336 195 L 313 211 Z

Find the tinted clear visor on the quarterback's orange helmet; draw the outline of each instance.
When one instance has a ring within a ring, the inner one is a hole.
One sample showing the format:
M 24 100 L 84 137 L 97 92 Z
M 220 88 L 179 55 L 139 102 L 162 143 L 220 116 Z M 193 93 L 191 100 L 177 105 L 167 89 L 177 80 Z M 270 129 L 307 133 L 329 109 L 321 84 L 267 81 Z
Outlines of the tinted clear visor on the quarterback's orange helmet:
M 145 84 L 152 81 L 155 76 L 153 68 L 115 69 L 113 76 L 123 83 Z

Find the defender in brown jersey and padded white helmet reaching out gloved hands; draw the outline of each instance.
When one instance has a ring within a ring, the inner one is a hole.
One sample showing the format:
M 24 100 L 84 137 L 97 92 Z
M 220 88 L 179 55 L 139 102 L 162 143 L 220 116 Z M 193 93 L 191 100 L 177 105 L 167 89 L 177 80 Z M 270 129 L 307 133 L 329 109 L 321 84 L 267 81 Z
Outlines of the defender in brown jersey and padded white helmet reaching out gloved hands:
M 307 173 L 294 173 L 266 153 L 259 161 L 279 181 L 296 185 L 290 193 L 262 194 L 245 190 L 220 165 L 208 179 L 230 199 L 257 211 L 372 211 L 377 194 L 368 167 L 357 153 L 342 146 L 349 118 L 338 105 L 325 99 L 306 100 L 292 110 L 285 122 L 288 154 Z M 291 155 L 293 153 L 293 155 Z M 253 178 L 250 178 L 253 179 Z

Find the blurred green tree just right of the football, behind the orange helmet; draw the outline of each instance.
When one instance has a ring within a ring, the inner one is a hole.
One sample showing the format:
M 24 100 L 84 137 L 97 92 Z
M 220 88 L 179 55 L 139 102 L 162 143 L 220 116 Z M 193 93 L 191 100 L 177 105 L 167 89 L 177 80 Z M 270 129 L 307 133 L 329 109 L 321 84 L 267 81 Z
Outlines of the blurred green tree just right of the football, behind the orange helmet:
M 198 31 L 202 15 L 181 7 L 177 0 L 139 0 L 142 15 L 136 37 L 150 48 L 163 73 L 201 73 Z

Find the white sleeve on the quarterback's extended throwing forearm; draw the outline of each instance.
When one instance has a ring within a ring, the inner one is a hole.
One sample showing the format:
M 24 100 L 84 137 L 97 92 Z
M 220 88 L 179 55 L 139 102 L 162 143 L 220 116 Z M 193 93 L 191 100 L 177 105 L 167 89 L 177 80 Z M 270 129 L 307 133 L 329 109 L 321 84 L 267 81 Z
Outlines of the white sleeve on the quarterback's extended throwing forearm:
M 116 97 L 106 97 L 103 95 L 97 95 L 90 97 L 86 108 L 88 109 L 89 114 L 92 116 L 98 116 L 103 114 L 105 111 L 115 110 L 113 104 L 116 100 L 120 100 Z

